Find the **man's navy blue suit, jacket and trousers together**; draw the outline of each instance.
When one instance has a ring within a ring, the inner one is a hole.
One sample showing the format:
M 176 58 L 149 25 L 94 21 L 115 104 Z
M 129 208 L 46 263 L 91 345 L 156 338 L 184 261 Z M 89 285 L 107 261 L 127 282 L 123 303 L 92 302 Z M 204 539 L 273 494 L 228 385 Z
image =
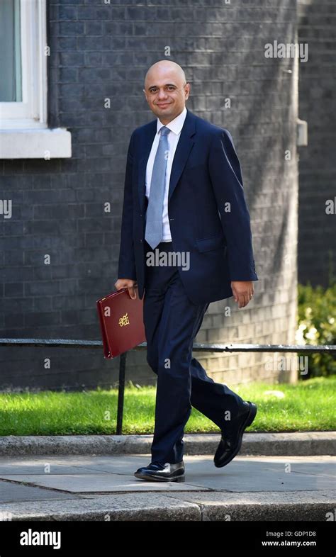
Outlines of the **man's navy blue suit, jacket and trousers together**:
M 230 281 L 257 281 L 250 215 L 233 139 L 187 111 L 169 182 L 172 242 L 157 249 L 188 252 L 190 268 L 147 266 L 145 171 L 157 120 L 137 128 L 128 147 L 118 278 L 144 296 L 147 361 L 157 374 L 152 461 L 180 462 L 191 406 L 223 427 L 242 399 L 206 375 L 192 357 L 209 303 L 233 296 Z

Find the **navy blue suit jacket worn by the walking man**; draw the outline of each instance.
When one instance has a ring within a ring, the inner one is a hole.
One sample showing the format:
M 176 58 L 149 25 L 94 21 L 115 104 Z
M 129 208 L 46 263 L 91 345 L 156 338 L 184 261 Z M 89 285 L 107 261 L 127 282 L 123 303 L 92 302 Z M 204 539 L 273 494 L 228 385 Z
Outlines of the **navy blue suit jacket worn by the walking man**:
M 118 278 L 145 281 L 145 171 L 157 119 L 130 137 L 125 172 Z M 169 226 L 174 252 L 189 252 L 178 266 L 186 295 L 196 304 L 233 296 L 230 281 L 257 281 L 250 214 L 233 138 L 189 110 L 169 182 Z

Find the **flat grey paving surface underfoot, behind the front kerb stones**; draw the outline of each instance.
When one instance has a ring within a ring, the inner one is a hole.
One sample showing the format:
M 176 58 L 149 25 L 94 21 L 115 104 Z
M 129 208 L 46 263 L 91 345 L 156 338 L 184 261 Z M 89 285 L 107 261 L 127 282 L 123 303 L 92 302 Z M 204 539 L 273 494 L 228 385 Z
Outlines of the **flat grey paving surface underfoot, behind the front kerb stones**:
M 316 491 L 336 488 L 336 458 L 332 456 L 237 456 L 228 466 L 215 468 L 210 456 L 186 456 L 185 482 L 158 483 L 138 480 L 133 473 L 150 461 L 142 456 L 67 458 L 45 456 L 35 461 L 0 460 L 0 478 L 69 493 L 109 493 L 142 490 Z M 41 474 L 45 464 L 50 472 Z M 22 473 L 28 466 L 29 473 Z M 4 473 L 5 472 L 5 473 Z M 21 472 L 21 473 L 20 473 Z

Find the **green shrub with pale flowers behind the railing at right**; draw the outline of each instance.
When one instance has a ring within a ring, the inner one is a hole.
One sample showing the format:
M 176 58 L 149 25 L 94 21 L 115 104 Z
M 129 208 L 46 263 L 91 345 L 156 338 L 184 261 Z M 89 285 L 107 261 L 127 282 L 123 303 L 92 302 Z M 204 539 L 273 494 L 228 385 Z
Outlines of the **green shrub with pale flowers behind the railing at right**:
M 336 344 L 336 282 L 328 288 L 298 285 L 298 344 Z M 299 354 L 303 356 L 303 354 Z M 335 354 L 309 354 L 303 379 L 336 373 Z

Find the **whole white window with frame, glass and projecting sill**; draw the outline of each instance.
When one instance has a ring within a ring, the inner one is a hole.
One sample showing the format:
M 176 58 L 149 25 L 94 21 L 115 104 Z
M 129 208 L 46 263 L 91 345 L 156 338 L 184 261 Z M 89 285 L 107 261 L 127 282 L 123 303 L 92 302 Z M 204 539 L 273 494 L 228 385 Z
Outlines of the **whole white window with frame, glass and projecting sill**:
M 71 157 L 71 134 L 47 127 L 48 54 L 46 0 L 1 0 L 0 158 Z

